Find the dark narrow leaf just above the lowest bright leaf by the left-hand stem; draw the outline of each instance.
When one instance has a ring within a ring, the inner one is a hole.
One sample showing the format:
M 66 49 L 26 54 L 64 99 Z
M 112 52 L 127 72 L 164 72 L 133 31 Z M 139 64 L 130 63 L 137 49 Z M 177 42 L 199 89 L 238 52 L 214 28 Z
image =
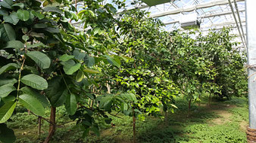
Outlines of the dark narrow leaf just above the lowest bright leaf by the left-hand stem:
M 35 90 L 32 90 L 30 87 L 23 87 L 20 89 L 23 93 L 28 94 L 30 96 L 35 97 L 44 108 L 48 107 L 49 103 L 45 96 L 42 94 L 36 92 Z

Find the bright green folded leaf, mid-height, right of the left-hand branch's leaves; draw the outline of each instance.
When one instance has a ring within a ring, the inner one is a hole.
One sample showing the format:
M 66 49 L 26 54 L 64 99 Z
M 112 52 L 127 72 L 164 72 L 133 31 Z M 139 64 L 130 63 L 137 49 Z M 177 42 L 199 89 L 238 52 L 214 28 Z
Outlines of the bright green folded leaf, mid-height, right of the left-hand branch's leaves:
M 66 62 L 61 62 L 61 64 L 64 65 L 63 69 L 67 75 L 72 75 L 81 67 L 80 63 L 76 63 L 72 59 Z

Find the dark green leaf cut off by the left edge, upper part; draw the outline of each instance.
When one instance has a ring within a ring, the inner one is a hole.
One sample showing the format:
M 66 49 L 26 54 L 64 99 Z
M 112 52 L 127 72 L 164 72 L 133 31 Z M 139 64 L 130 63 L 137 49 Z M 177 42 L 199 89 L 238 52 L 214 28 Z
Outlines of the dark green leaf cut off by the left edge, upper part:
M 4 41 L 13 41 L 16 39 L 14 29 L 8 23 L 0 24 L 0 35 Z

